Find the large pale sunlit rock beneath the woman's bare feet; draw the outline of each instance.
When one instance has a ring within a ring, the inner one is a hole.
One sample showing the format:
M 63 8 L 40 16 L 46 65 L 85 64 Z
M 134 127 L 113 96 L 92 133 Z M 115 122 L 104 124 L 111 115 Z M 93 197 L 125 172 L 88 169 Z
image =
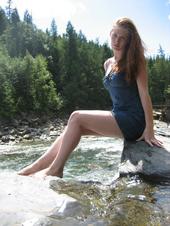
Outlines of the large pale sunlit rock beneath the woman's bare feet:
M 66 183 L 0 172 L 0 226 L 106 226 L 91 216 L 89 206 L 52 189 Z

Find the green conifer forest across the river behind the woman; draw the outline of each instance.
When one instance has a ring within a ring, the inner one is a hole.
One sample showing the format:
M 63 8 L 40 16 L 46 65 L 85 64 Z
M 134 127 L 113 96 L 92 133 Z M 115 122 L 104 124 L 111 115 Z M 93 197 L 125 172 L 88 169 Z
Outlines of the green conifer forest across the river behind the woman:
M 109 109 L 103 87 L 103 63 L 112 55 L 108 43 L 88 40 L 68 21 L 59 35 L 54 19 L 42 31 L 26 10 L 0 7 L 0 117 L 67 114 L 75 109 Z M 161 45 L 147 59 L 153 105 L 170 99 L 170 57 Z

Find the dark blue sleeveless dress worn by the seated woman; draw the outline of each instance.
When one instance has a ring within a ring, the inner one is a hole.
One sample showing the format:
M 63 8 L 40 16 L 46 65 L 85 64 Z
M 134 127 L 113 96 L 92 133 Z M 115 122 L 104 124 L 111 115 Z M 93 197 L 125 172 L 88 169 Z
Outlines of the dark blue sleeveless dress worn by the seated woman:
M 145 129 L 145 116 L 137 83 L 128 84 L 125 73 L 111 72 L 103 78 L 113 103 L 112 115 L 126 140 L 135 141 Z

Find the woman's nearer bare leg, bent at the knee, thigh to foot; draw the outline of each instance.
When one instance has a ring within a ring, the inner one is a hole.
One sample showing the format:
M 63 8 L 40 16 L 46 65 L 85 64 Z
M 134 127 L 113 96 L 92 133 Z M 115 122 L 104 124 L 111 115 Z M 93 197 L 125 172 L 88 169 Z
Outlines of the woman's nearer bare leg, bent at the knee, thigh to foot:
M 75 111 L 70 116 L 57 155 L 44 172 L 45 175 L 62 176 L 65 162 L 80 141 L 83 131 L 100 136 L 123 137 L 115 118 L 109 111 Z

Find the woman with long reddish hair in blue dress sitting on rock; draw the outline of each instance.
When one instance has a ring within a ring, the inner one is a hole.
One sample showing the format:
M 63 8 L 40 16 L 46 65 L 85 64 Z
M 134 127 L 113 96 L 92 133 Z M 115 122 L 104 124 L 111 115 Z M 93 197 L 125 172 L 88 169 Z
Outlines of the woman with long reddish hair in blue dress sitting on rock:
M 62 177 L 65 162 L 83 135 L 143 139 L 151 146 L 161 146 L 154 136 L 144 47 L 138 31 L 130 19 L 120 18 L 114 22 L 110 38 L 114 57 L 104 63 L 104 86 L 113 101 L 112 111 L 73 112 L 49 150 L 20 175 L 40 171 L 43 177 Z

